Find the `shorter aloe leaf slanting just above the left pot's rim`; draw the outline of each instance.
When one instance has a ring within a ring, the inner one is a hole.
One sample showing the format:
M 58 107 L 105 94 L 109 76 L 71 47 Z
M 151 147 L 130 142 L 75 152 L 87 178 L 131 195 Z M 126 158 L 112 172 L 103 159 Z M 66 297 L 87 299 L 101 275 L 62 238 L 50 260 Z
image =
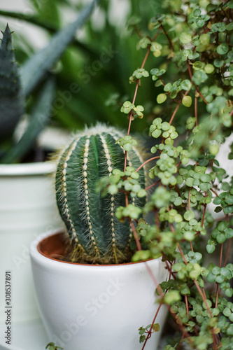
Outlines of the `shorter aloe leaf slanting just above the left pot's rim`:
M 55 97 L 55 81 L 49 79 L 41 89 L 34 109 L 31 111 L 31 120 L 27 130 L 22 135 L 20 141 L 10 148 L 5 157 L 1 159 L 2 163 L 8 164 L 20 160 L 32 146 L 38 134 L 44 129 L 50 120 L 50 111 L 52 101 Z

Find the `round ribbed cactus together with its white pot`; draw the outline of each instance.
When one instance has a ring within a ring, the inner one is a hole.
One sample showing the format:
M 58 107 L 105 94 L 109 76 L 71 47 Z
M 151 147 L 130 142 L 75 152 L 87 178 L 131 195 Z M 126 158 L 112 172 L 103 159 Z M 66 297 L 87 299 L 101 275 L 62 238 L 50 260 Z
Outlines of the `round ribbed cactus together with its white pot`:
M 148 323 L 157 309 L 151 276 L 155 274 L 160 282 L 169 275 L 161 258 L 130 263 L 132 228 L 129 221 L 115 218 L 115 207 L 125 204 L 125 193 L 118 193 L 113 185 L 111 194 L 102 197 L 95 188 L 98 180 L 125 177 L 125 188 L 133 186 L 127 210 L 132 220 L 138 216 L 146 195 L 142 155 L 129 137 L 124 145 L 129 166 L 120 171 L 126 154 L 117 142 L 122 136 L 113 127 L 97 125 L 64 146 L 57 160 L 56 194 L 68 235 L 53 232 L 31 245 L 45 329 L 53 342 L 66 349 L 139 349 L 135 328 L 141 320 Z M 161 326 L 166 314 L 164 309 Z M 151 349 L 157 340 L 153 339 Z

